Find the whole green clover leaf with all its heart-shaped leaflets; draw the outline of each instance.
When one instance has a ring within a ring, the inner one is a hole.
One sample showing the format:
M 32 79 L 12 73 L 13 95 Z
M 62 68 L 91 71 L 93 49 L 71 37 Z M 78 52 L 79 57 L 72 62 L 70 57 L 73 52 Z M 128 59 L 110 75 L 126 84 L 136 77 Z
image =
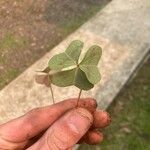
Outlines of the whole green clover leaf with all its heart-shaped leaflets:
M 49 60 L 48 67 L 43 72 L 49 73 L 47 70 L 56 71 L 49 74 L 52 84 L 60 87 L 74 85 L 81 90 L 89 90 L 100 80 L 97 64 L 102 54 L 101 47 L 91 46 L 79 63 L 82 48 L 83 42 L 72 41 L 65 52 L 57 54 Z M 74 69 L 62 70 L 70 66 L 74 66 Z

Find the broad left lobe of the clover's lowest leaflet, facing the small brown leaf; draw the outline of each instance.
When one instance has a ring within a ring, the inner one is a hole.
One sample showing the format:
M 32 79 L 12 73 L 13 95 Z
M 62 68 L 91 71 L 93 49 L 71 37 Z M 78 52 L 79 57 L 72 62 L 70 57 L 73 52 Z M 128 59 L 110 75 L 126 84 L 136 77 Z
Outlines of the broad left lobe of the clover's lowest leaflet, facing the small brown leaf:
M 72 70 L 61 71 L 56 74 L 50 75 L 51 82 L 54 85 L 60 87 L 73 85 L 75 72 L 76 69 L 72 69 Z

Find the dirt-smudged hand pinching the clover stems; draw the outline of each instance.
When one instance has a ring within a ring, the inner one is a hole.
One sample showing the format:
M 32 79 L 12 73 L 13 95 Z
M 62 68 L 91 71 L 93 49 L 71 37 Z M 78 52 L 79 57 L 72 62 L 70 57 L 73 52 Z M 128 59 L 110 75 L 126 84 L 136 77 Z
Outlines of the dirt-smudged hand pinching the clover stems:
M 70 150 L 76 143 L 97 144 L 109 125 L 106 112 L 96 110 L 96 101 L 76 99 L 36 108 L 22 117 L 0 125 L 1 150 Z

